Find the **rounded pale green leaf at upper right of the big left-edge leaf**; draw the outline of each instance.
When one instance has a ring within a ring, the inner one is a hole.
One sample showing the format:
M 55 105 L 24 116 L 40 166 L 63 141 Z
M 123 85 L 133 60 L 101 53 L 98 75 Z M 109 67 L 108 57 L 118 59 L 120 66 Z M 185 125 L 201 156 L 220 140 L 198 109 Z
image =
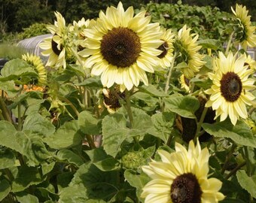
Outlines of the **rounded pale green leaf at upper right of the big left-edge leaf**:
M 26 130 L 39 133 L 40 135 L 52 135 L 55 132 L 55 127 L 50 123 L 50 120 L 35 113 L 26 117 L 23 124 L 23 131 Z

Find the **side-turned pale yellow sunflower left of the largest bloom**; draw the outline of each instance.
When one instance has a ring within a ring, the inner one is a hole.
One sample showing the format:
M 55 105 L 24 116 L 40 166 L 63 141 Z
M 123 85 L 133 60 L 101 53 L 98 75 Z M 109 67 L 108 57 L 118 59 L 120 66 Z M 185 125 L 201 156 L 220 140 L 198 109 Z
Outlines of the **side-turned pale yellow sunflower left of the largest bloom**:
M 65 35 L 66 35 L 66 22 L 59 12 L 55 12 L 56 21 L 54 26 L 47 26 L 47 29 L 53 34 L 49 38 L 45 38 L 39 47 L 44 50 L 41 52 L 42 56 L 48 56 L 46 66 L 56 68 L 66 68 L 66 49 L 65 49 Z

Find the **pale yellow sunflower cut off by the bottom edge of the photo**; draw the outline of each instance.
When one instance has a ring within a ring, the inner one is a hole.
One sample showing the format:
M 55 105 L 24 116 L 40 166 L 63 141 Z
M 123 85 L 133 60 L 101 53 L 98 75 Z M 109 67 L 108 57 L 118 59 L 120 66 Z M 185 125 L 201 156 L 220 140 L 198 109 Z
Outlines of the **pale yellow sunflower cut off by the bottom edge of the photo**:
M 175 144 L 175 152 L 157 150 L 162 162 L 152 161 L 142 166 L 142 171 L 153 180 L 143 188 L 145 203 L 205 203 L 218 202 L 224 195 L 218 192 L 221 181 L 208 178 L 209 150 L 201 150 L 190 141 L 188 150 Z

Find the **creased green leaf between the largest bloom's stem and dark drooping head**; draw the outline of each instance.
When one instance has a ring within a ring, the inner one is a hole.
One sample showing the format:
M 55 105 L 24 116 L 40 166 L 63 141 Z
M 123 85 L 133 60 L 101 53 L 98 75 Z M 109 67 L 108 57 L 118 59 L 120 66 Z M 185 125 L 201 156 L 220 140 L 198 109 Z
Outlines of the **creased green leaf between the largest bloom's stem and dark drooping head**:
M 154 114 L 151 117 L 154 125 L 153 130 L 150 132 L 151 135 L 160 138 L 166 143 L 168 141 L 169 136 L 171 135 L 175 117 L 175 114 L 172 112 Z

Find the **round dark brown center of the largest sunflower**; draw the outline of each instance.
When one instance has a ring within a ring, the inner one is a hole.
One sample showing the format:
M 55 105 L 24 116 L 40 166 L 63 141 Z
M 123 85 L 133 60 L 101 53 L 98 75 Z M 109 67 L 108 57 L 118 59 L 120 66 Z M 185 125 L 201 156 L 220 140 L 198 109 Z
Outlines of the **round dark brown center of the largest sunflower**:
M 117 68 L 126 68 L 136 62 L 141 53 L 141 43 L 136 32 L 118 27 L 103 36 L 100 50 L 108 63 Z

